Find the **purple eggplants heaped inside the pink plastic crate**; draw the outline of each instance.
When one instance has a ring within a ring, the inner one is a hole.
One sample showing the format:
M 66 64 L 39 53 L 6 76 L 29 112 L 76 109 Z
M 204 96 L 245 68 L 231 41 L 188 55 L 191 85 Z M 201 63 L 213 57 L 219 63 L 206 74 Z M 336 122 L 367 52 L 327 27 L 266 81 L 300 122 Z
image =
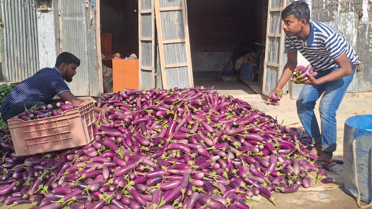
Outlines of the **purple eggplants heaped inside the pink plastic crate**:
M 21 120 L 28 121 L 28 120 L 35 120 L 35 119 L 40 119 L 40 118 L 49 118 L 52 116 L 62 115 L 65 110 L 71 110 L 71 109 L 78 107 L 78 105 L 75 105 L 69 101 L 66 101 L 65 103 L 58 102 L 57 109 L 54 109 L 54 107 L 50 104 L 48 104 L 47 106 L 44 106 L 44 105 L 37 106 L 37 105 L 38 104 L 31 107 L 29 110 L 26 109 L 25 107 L 25 112 L 15 116 L 14 119 L 21 119 Z

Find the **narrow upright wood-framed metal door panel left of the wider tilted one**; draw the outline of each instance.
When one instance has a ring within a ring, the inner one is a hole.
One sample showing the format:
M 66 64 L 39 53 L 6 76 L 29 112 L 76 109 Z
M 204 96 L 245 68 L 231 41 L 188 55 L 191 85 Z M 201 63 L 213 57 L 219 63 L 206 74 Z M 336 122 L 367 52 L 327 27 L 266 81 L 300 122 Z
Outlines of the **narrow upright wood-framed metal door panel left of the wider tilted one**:
M 154 0 L 138 1 L 139 88 L 155 87 L 155 14 Z

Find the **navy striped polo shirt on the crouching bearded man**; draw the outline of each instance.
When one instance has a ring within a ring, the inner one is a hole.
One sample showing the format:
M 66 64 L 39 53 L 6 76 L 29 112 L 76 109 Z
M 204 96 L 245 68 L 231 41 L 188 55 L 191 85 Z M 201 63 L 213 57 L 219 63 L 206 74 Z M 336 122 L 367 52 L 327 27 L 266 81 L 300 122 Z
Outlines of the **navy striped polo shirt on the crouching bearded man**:
M 47 102 L 55 95 L 70 91 L 61 71 L 57 68 L 42 68 L 35 75 L 23 80 L 7 96 L 0 112 L 5 113 L 9 108 L 23 100 Z

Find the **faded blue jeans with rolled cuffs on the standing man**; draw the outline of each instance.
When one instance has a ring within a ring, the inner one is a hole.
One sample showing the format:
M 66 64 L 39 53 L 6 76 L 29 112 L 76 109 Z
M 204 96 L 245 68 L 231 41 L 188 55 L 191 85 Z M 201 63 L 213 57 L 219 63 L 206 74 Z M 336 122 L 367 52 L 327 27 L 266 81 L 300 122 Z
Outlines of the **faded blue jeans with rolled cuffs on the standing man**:
M 318 144 L 321 142 L 321 150 L 325 152 L 333 152 L 336 150 L 336 110 L 339 108 L 346 90 L 353 80 L 355 68 L 356 66 L 352 64 L 352 73 L 335 81 L 324 83 L 319 86 L 305 84 L 298 96 L 296 103 L 297 113 L 302 126 L 304 126 L 306 132 L 310 136 L 310 144 Z M 338 68 L 318 72 L 315 78 L 318 79 L 323 77 L 337 69 Z M 321 122 L 320 134 L 318 121 L 314 114 L 314 107 L 322 93 L 324 94 L 319 103 Z

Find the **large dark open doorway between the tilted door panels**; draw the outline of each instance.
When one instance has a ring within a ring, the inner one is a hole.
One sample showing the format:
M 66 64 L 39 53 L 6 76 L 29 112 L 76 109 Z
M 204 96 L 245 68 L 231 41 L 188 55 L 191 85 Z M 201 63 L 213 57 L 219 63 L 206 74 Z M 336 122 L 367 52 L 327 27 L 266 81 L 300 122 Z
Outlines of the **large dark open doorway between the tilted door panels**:
M 268 0 L 187 0 L 195 83 L 201 83 L 198 80 L 236 83 L 243 75 L 259 84 L 263 65 L 255 65 L 260 63 L 256 57 L 259 49 L 263 52 L 260 55 L 264 55 L 267 6 Z M 244 73 L 247 66 L 249 75 Z

